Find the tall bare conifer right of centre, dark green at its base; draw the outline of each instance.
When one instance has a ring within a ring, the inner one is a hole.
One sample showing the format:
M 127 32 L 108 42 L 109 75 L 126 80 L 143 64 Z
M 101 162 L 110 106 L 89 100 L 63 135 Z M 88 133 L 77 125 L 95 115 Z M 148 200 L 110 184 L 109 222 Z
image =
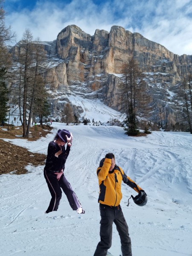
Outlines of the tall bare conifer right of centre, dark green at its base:
M 125 133 L 137 135 L 138 117 L 147 117 L 150 97 L 137 61 L 131 58 L 124 67 L 124 82 L 120 84 L 121 112 L 125 114 Z

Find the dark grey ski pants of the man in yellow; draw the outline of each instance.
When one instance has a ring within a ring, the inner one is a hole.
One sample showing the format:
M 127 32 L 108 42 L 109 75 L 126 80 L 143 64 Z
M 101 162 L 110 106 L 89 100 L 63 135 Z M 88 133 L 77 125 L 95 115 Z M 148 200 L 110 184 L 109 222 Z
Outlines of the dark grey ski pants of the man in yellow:
M 99 204 L 101 221 L 100 221 L 100 237 L 101 241 L 97 244 L 94 256 L 106 256 L 112 242 L 112 226 L 113 222 L 119 233 L 121 240 L 122 256 L 132 256 L 131 239 L 128 233 L 128 225 L 122 213 L 120 205 L 118 207 L 110 207 L 105 204 Z

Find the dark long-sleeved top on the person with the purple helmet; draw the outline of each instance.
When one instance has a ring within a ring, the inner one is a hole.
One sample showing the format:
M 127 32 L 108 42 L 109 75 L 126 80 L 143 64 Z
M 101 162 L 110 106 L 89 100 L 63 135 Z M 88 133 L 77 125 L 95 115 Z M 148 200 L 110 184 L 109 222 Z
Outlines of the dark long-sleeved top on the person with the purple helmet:
M 61 148 L 51 141 L 48 145 L 47 159 L 44 170 L 48 173 L 60 172 L 61 169 L 65 168 L 65 162 L 70 152 L 70 147 L 61 146 Z

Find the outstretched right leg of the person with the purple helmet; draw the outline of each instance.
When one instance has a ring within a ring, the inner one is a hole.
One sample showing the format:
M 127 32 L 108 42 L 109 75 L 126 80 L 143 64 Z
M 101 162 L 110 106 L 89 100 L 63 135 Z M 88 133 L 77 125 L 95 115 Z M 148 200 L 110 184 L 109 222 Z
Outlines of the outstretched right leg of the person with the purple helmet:
M 81 207 L 81 204 L 79 203 L 76 193 L 73 191 L 70 183 L 67 181 L 64 175 L 61 176 L 59 180 L 59 185 L 61 186 L 63 192 L 67 196 L 67 200 L 69 201 L 70 207 L 73 210 L 79 209 Z

